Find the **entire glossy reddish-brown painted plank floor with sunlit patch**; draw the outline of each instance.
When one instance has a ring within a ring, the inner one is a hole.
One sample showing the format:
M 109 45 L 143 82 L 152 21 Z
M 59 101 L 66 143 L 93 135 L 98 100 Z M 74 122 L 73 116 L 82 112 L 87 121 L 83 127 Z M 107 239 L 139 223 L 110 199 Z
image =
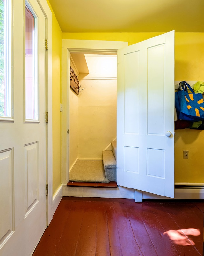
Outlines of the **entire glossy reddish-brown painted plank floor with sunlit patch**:
M 63 197 L 33 256 L 202 255 L 203 201 Z

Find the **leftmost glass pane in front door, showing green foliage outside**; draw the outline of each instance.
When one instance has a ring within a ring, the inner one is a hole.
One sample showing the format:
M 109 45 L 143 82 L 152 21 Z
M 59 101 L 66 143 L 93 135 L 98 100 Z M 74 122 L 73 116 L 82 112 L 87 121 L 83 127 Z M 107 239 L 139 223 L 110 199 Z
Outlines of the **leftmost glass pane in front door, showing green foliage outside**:
M 11 117 L 9 3 L 0 0 L 0 116 Z M 11 36 L 10 36 L 11 37 Z

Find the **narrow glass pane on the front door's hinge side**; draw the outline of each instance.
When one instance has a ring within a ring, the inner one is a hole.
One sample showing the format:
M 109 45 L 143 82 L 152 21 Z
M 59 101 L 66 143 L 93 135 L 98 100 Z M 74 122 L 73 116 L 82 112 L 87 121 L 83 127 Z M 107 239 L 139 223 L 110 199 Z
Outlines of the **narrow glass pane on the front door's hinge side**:
M 25 9 L 25 119 L 38 120 L 38 84 L 35 17 Z

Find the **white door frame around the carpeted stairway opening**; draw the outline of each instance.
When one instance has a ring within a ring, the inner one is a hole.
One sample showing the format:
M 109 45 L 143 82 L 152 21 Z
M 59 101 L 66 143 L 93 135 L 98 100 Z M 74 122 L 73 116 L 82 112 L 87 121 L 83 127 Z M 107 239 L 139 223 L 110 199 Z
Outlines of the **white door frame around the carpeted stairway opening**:
M 62 183 L 69 180 L 69 66 L 70 52 L 89 54 L 115 54 L 120 48 L 128 46 L 128 42 L 62 39 Z M 63 159 L 65 159 L 63 161 Z

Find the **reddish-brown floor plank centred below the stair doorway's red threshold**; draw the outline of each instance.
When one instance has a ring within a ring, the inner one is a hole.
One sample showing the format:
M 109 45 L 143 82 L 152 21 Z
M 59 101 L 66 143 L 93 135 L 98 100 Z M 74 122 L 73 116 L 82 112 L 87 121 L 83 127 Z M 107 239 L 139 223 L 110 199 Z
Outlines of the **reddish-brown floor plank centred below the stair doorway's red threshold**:
M 76 256 L 95 256 L 96 254 L 97 209 L 95 206 L 94 202 L 85 202 Z

